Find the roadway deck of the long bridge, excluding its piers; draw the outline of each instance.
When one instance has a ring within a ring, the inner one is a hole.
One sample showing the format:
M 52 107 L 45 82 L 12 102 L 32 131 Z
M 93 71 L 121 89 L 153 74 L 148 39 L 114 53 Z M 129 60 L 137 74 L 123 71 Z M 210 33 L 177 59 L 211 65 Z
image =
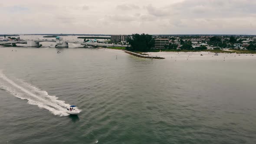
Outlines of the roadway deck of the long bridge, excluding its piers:
M 15 45 L 16 43 L 27 43 L 27 41 L 34 41 L 35 43 L 40 43 L 40 42 L 55 42 L 56 40 L 22 40 L 22 41 L 5 41 L 5 42 L 0 42 L 0 45 Z M 118 44 L 109 44 L 109 43 L 92 43 L 92 42 L 77 42 L 77 41 L 63 41 L 63 43 L 80 43 L 82 45 L 86 46 L 106 46 L 106 47 L 126 47 L 127 45 L 118 45 Z

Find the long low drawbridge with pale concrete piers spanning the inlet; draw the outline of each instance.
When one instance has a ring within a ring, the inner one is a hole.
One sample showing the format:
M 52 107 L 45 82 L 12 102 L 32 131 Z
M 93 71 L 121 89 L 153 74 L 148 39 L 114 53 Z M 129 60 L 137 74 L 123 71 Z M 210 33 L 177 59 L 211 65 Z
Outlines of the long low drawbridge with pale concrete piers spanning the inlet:
M 69 43 L 80 43 L 84 46 L 102 46 L 102 47 L 126 47 L 127 45 L 118 45 L 118 44 L 109 44 L 109 43 L 93 43 L 93 42 L 77 42 L 77 41 L 63 41 L 62 38 L 56 38 L 56 40 L 22 40 L 22 41 L 5 41 L 0 42 L 0 45 L 12 45 L 16 46 L 16 44 L 23 43 L 27 44 L 30 47 L 39 46 L 40 42 L 53 42 L 58 45 L 58 47 L 69 47 Z

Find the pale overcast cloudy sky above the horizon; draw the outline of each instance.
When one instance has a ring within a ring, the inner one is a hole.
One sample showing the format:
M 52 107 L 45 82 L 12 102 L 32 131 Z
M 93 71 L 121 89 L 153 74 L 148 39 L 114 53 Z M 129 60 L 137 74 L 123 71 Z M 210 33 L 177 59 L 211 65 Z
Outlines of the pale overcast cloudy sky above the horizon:
M 256 0 L 0 0 L 0 34 L 256 34 Z

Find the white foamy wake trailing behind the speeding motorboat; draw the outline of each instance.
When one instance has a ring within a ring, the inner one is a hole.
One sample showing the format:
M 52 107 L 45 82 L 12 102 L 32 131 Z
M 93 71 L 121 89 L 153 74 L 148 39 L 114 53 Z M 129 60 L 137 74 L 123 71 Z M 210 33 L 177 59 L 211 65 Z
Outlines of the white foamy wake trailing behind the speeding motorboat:
M 58 100 L 56 96 L 48 95 L 46 91 L 40 90 L 29 83 L 9 79 L 0 70 L 0 88 L 6 90 L 17 98 L 28 100 L 28 104 L 37 105 L 39 108 L 45 108 L 54 115 L 67 116 L 66 108 L 69 104 L 65 101 Z

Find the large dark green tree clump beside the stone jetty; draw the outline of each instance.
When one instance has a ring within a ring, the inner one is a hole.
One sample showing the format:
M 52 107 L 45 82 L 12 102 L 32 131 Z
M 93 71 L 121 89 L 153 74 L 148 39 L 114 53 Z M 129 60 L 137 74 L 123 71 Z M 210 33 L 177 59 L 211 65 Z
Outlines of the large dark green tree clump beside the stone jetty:
M 136 33 L 128 37 L 127 42 L 131 45 L 127 50 L 147 52 L 154 45 L 154 39 L 151 35 Z

